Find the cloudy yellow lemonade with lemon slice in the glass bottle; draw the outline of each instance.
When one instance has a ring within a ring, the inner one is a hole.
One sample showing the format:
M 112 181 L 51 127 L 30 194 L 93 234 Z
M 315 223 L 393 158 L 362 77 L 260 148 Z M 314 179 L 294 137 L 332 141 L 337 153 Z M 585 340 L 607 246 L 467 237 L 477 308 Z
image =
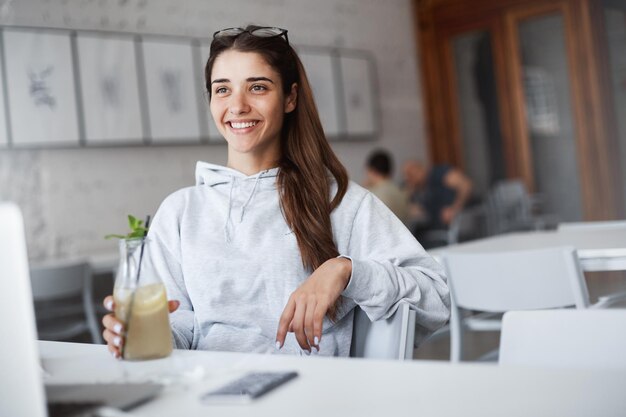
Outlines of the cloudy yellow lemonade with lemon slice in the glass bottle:
M 135 293 L 115 288 L 115 316 L 124 323 L 124 359 L 156 359 L 172 352 L 172 332 L 165 287 L 161 283 L 140 286 Z M 132 300 L 130 319 L 127 317 Z

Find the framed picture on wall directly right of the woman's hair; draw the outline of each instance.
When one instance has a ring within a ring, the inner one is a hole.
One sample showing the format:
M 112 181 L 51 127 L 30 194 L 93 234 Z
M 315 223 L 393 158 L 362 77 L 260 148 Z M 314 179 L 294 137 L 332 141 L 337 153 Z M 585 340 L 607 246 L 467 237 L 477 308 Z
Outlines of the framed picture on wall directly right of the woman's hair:
M 334 65 L 336 57 L 328 49 L 304 49 L 299 56 L 313 89 L 324 132 L 329 138 L 336 138 L 345 133 L 343 112 L 339 111 L 339 80 Z

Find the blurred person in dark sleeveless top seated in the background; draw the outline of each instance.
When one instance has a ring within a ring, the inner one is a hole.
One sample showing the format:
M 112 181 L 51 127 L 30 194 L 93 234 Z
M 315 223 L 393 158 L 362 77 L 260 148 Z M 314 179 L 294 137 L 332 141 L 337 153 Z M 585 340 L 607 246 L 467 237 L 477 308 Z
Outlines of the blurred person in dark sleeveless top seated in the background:
M 472 181 L 449 165 L 431 167 L 408 161 L 403 174 L 409 193 L 412 231 L 418 239 L 425 231 L 448 228 L 472 192 Z

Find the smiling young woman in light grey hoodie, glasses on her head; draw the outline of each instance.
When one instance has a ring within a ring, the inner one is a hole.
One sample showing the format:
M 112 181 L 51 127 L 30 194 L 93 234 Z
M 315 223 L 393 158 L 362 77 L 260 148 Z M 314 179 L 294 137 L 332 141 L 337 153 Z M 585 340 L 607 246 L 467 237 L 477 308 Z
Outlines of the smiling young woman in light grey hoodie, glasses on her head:
M 150 228 L 177 348 L 347 356 L 353 309 L 398 302 L 418 335 L 442 326 L 441 267 L 377 198 L 349 182 L 330 148 L 287 31 L 214 34 L 205 69 L 226 167 L 199 162 Z M 105 305 L 112 308 L 112 299 Z M 119 357 L 122 324 L 103 319 Z

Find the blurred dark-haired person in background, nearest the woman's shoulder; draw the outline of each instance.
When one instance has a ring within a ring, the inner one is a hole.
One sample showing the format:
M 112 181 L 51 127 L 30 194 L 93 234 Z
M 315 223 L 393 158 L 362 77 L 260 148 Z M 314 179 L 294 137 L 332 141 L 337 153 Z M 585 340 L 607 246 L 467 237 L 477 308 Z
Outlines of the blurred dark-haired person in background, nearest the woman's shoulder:
M 380 199 L 402 222 L 408 220 L 409 201 L 406 193 L 398 187 L 391 175 L 391 156 L 383 150 L 374 151 L 366 164 L 365 186 Z

